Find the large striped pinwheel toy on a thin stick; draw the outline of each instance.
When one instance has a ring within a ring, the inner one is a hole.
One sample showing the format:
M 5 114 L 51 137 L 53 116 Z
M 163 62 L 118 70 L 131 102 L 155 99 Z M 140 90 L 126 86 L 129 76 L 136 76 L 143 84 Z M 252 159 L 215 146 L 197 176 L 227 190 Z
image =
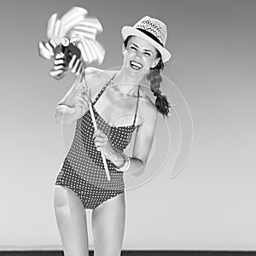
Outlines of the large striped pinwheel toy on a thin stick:
M 44 59 L 54 59 L 54 68 L 49 75 L 54 79 L 62 79 L 70 70 L 85 81 L 86 64 L 97 61 L 102 64 L 105 49 L 96 41 L 96 34 L 102 32 L 102 25 L 94 17 L 88 17 L 88 11 L 81 7 L 73 7 L 57 19 L 57 14 L 48 20 L 48 42 L 38 43 L 38 54 Z M 89 104 L 91 119 L 97 131 L 96 119 Z M 110 180 L 108 165 L 104 154 L 102 160 L 106 175 Z

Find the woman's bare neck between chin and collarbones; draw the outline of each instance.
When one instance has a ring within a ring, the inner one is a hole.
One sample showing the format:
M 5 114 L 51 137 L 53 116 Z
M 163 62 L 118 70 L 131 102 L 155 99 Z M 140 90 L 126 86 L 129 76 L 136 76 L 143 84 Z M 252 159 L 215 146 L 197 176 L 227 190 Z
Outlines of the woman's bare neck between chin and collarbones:
M 131 76 L 125 72 L 122 68 L 117 71 L 112 84 L 114 84 L 115 90 L 118 90 L 124 96 L 137 96 L 137 87 L 143 82 L 141 76 Z

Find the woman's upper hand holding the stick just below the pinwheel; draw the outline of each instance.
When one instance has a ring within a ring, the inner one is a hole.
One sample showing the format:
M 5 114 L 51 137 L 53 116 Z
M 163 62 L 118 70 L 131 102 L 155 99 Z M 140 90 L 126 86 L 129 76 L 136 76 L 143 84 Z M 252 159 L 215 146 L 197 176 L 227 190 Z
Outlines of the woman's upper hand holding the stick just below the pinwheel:
M 86 86 L 84 73 L 82 73 L 76 81 L 77 96 L 74 101 L 75 116 L 81 118 L 89 109 L 90 89 Z

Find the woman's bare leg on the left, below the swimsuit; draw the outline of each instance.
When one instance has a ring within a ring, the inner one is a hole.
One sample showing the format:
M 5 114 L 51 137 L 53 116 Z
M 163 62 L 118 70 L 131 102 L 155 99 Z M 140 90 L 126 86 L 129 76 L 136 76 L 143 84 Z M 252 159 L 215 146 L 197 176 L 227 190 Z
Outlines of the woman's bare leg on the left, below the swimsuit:
M 65 256 L 88 256 L 88 233 L 84 205 L 72 189 L 55 186 L 55 218 Z

